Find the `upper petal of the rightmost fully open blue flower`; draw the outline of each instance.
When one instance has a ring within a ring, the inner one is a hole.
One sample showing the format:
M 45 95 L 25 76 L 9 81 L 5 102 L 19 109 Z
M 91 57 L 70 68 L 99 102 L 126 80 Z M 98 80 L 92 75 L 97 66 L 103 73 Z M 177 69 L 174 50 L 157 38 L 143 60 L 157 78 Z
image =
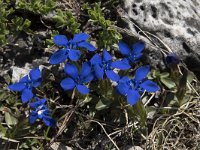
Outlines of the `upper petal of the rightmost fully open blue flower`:
M 138 68 L 135 72 L 135 80 L 136 81 L 141 81 L 144 78 L 147 77 L 147 74 L 150 71 L 150 66 L 142 66 L 140 68 Z

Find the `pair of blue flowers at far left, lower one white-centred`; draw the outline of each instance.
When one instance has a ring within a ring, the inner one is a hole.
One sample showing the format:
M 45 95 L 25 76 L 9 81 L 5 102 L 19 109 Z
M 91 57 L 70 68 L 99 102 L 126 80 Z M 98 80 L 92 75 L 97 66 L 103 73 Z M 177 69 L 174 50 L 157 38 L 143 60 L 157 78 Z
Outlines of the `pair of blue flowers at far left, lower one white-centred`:
M 33 89 L 41 85 L 42 78 L 39 68 L 34 68 L 29 75 L 24 76 L 19 82 L 8 86 L 10 90 L 21 92 L 22 103 L 29 102 L 32 98 L 35 102 L 29 103 L 32 111 L 29 115 L 29 122 L 34 123 L 37 118 L 42 119 L 47 126 L 55 127 L 55 120 L 49 116 L 49 110 L 45 105 L 46 99 L 40 99 L 33 94 Z

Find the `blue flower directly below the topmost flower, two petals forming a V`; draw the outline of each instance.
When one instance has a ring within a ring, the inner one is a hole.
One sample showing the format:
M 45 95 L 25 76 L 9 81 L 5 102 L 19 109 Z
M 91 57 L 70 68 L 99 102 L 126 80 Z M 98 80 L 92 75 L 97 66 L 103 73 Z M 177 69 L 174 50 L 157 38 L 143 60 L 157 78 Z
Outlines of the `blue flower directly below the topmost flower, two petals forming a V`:
M 79 74 L 75 65 L 67 63 L 64 71 L 69 78 L 65 78 L 61 81 L 60 85 L 64 90 L 72 90 L 77 88 L 81 94 L 88 94 L 89 89 L 84 85 L 93 80 L 93 74 L 91 73 L 91 67 L 88 62 L 83 63 L 81 72 Z

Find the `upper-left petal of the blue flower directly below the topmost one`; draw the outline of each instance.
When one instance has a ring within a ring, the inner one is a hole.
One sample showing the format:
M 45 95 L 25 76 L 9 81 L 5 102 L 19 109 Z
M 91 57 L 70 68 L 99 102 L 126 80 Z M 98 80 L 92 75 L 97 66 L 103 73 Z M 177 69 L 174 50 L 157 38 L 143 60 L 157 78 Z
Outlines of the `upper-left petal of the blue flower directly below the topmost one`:
M 73 79 L 78 77 L 78 69 L 74 64 L 67 63 L 65 65 L 64 71 Z

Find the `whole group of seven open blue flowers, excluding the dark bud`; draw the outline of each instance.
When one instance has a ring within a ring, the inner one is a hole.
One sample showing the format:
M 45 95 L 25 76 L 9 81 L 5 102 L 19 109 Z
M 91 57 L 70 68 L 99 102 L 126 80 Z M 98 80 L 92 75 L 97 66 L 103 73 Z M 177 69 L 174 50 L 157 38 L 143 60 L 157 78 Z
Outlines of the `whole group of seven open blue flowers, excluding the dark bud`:
M 159 87 L 153 81 L 147 79 L 150 71 L 149 66 L 142 66 L 135 72 L 134 78 L 128 76 L 120 77 L 115 68 L 119 70 L 128 70 L 134 63 L 137 63 L 142 57 L 142 51 L 145 47 L 143 42 L 133 45 L 132 49 L 123 41 L 119 42 L 119 50 L 123 58 L 113 61 L 109 52 L 104 49 L 102 54 L 96 53 L 87 62 L 82 63 L 82 69 L 79 71 L 73 63 L 81 57 L 79 48 L 84 48 L 90 52 L 94 52 L 96 48 L 90 44 L 89 36 L 86 33 L 75 34 L 73 39 L 68 40 L 64 35 L 56 35 L 54 43 L 61 47 L 50 57 L 50 64 L 55 65 L 62 62 L 65 63 L 64 72 L 68 76 L 60 83 L 64 90 L 77 89 L 81 94 L 88 94 L 89 88 L 87 83 L 92 80 L 108 79 L 117 83 L 117 91 L 127 97 L 129 104 L 134 105 L 139 99 L 140 94 L 144 91 L 156 92 Z M 55 126 L 55 121 L 49 116 L 49 111 L 45 105 L 46 99 L 39 99 L 34 96 L 32 89 L 37 88 L 41 84 L 41 73 L 39 68 L 30 71 L 29 75 L 23 77 L 18 83 L 9 85 L 9 89 L 21 92 L 23 103 L 29 102 L 33 97 L 35 102 L 30 103 L 32 109 L 30 113 L 30 123 L 34 123 L 37 118 L 42 119 L 47 126 Z

